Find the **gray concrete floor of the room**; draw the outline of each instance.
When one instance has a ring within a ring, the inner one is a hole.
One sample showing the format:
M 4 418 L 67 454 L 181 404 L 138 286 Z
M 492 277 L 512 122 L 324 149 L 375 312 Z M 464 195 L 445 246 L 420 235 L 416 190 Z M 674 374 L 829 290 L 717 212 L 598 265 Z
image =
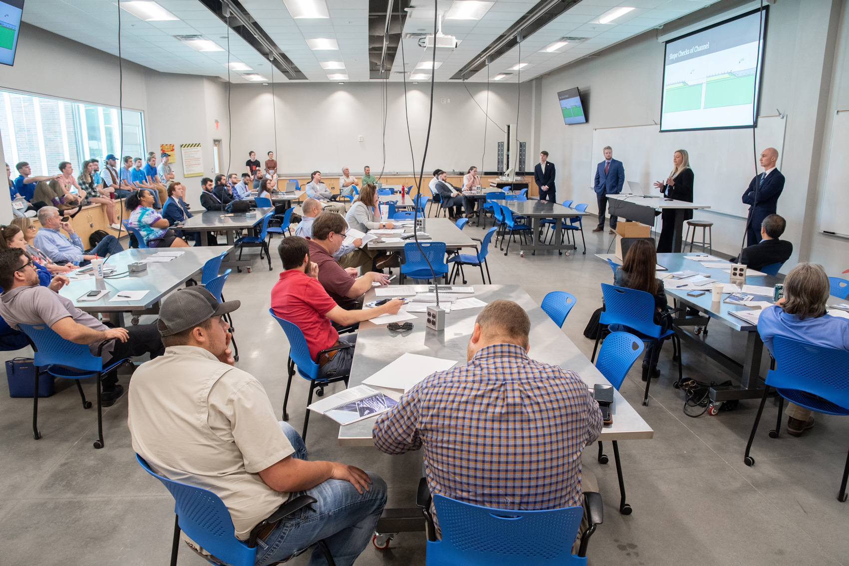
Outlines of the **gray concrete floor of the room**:
M 480 228 L 466 229 L 482 237 Z M 582 331 L 601 304 L 599 283 L 612 279 L 610 267 L 593 254 L 607 251 L 613 237 L 606 231 L 586 232 L 587 255 L 546 252 L 520 258 L 518 249 L 509 257 L 493 249 L 489 269 L 493 283 L 521 283 L 537 301 L 552 290 L 575 294 L 577 304 L 563 332 L 590 356 L 593 342 Z M 225 294 L 242 300 L 233 316 L 239 367 L 259 378 L 273 406 L 280 407 L 288 345 L 267 309 L 281 265 L 274 258 L 274 271 L 268 272 L 266 266 L 256 261 L 252 273 L 233 273 Z M 469 271 L 469 283 L 480 283 L 475 272 Z M 742 358 L 745 341 L 721 324 L 711 325 L 709 340 L 722 345 L 728 355 Z M 3 360 L 31 356 L 28 349 L 0 354 Z M 716 363 L 686 346 L 683 364 L 688 378 L 728 378 Z M 621 393 L 655 429 L 655 438 L 620 445 L 633 507 L 630 516 L 618 513 L 612 455 L 610 464 L 600 465 L 593 457 L 595 446 L 589 447 L 584 462 L 599 479 L 605 513 L 604 524 L 590 543 L 588 563 L 849 564 L 849 504 L 835 497 L 849 448 L 849 419 L 818 416 L 817 425 L 802 438 L 786 434 L 783 425 L 779 439 L 773 440 L 767 431 L 777 407 L 767 401 L 752 449 L 757 463 L 748 468 L 743 453 L 756 401 L 742 401 L 735 411 L 717 417 L 684 416 L 683 393 L 672 388 L 671 375 L 677 368 L 666 345 L 661 378 L 652 384 L 649 406 L 641 406 L 644 384 L 639 364 L 635 367 Z M 121 381 L 126 387 L 127 378 Z M 83 387 L 92 391 L 92 384 Z M 59 382 L 59 389 L 39 403 L 43 437 L 36 441 L 31 436 L 31 400 L 11 399 L 5 382 L 0 385 L 0 563 L 168 563 L 173 500 L 133 459 L 127 396 L 104 411 L 106 446 L 94 450 L 94 412 L 82 410 L 73 384 Z M 301 427 L 306 390 L 305 381 L 295 380 L 290 423 L 296 429 Z M 342 448 L 329 419 L 313 417 L 310 424 L 307 446 L 312 458 L 373 470 L 390 486 L 389 507 L 412 506 L 421 469 L 418 454 L 389 457 L 372 448 Z M 424 564 L 424 548 L 424 535 L 402 533 L 388 550 L 368 546 L 357 565 Z M 305 556 L 293 561 L 306 562 Z M 181 548 L 180 563 L 205 562 Z

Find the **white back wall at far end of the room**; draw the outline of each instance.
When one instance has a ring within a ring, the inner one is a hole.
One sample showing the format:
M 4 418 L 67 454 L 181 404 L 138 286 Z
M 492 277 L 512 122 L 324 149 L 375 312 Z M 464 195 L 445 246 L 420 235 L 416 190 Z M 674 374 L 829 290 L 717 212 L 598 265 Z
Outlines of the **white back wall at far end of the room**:
M 486 86 L 468 84 L 475 99 L 486 108 Z M 274 87 L 277 113 L 278 169 L 286 174 L 313 170 L 338 173 L 348 166 L 355 175 L 370 165 L 376 176 L 383 165 L 382 85 L 375 83 L 277 84 Z M 516 123 L 519 93 L 515 85 L 492 84 L 489 115 L 503 127 Z M 484 153 L 484 114 L 462 84 L 437 83 L 434 92 L 433 124 L 424 164 L 427 171 L 437 167 L 465 172 L 470 165 L 481 168 Z M 442 103 L 442 98 L 450 102 Z M 403 85 L 388 85 L 386 120 L 386 172 L 413 170 L 407 122 L 404 115 Z M 430 109 L 430 83 L 408 83 L 408 112 L 413 138 L 413 155 L 418 171 L 424 153 Z M 264 161 L 275 149 L 273 108 L 270 86 L 233 86 L 233 162 L 244 171 L 248 152 L 256 151 Z M 531 142 L 531 85 L 521 87 L 519 139 Z M 494 171 L 498 142 L 504 138 L 492 121 L 486 126 L 486 156 L 483 169 Z M 358 137 L 363 136 L 363 141 Z M 529 155 L 529 165 L 536 158 Z

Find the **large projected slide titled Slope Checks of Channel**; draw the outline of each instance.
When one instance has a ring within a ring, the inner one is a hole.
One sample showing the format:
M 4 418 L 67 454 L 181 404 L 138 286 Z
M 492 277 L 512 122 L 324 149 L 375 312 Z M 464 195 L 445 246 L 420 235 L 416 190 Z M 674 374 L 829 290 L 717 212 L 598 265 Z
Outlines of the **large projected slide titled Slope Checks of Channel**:
M 661 132 L 752 126 L 761 20 L 746 14 L 666 42 Z

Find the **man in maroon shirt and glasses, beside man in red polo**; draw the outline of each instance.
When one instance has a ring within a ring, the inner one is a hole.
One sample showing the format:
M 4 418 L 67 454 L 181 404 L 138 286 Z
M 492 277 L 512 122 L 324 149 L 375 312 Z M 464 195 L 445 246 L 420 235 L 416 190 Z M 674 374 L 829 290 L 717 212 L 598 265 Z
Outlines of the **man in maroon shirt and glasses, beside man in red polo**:
M 389 284 L 389 276 L 378 272 L 367 272 L 357 277 L 357 269 L 340 266 L 334 254 L 345 241 L 348 223 L 336 212 L 322 212 L 312 222 L 312 238 L 309 240 L 310 261 L 318 265 L 318 282 L 344 309 L 358 309 L 362 306 L 363 294 L 377 282 Z

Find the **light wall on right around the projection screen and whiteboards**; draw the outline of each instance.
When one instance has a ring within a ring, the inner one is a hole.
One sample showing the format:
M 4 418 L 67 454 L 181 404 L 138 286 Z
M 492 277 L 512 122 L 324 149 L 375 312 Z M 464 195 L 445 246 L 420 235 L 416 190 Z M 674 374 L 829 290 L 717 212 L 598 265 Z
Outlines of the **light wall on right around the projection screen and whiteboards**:
M 678 26 L 689 25 L 736 4 L 717 3 L 689 19 L 681 20 Z M 779 199 L 778 212 L 788 221 L 784 237 L 793 242 L 795 252 L 783 272 L 787 272 L 798 259 L 807 259 L 811 254 L 808 225 L 818 215 L 817 173 L 823 144 L 823 128 L 818 128 L 818 122 L 824 120 L 828 104 L 832 70 L 830 57 L 841 5 L 841 0 L 781 0 L 770 7 L 760 114 L 773 115 L 776 114 L 775 109 L 779 109 L 787 115 L 782 168 L 787 181 Z M 672 29 L 672 25 L 668 26 L 663 33 Z M 587 188 L 592 184 L 590 171 L 593 163 L 603 159 L 601 155 L 591 154 L 593 128 L 639 126 L 656 123 L 659 119 L 664 48 L 661 42 L 657 42 L 655 33 L 649 31 L 601 53 L 599 57 L 584 59 L 543 78 L 540 148 L 548 149 L 551 152 L 549 159 L 558 165 L 558 199 L 588 202 L 588 210 L 598 210 L 594 193 Z M 849 48 L 846 43 L 841 44 L 844 52 Z M 845 58 L 841 60 L 845 61 Z M 843 81 L 849 81 L 849 78 Z M 571 87 L 580 87 L 586 98 L 587 124 L 563 124 L 557 92 Z M 751 130 L 738 132 L 741 139 L 751 139 Z M 717 149 L 717 152 L 721 151 Z M 670 165 L 671 162 L 670 155 Z M 725 187 L 700 187 L 700 156 L 690 154 L 690 163 L 695 172 L 696 201 L 700 191 L 716 190 L 728 191 L 729 198 L 739 199 L 751 180 L 728 178 Z M 624 165 L 627 171 L 628 164 Z M 653 174 L 661 179 L 668 170 Z M 714 249 L 737 253 L 745 228 L 744 219 L 710 211 L 698 211 L 695 217 L 714 222 Z M 841 244 L 835 245 L 840 247 Z M 845 244 L 842 254 L 845 257 Z M 833 256 L 820 255 L 817 261 L 823 262 L 829 272 L 837 271 L 838 264 L 845 263 Z M 840 271 L 843 269 L 846 266 Z

